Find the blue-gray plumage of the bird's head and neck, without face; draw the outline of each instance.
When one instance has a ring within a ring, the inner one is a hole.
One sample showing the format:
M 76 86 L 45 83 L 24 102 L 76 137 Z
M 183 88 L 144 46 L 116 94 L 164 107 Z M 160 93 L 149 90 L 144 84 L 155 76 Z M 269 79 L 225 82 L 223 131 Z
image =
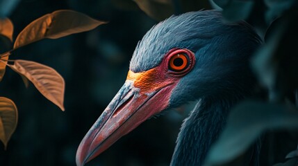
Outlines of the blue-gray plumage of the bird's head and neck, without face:
M 138 43 L 130 64 L 133 72 L 158 66 L 172 48 L 195 54 L 194 68 L 181 78 L 169 100 L 169 109 L 200 100 L 183 122 L 171 165 L 202 165 L 231 107 L 254 89 L 249 58 L 261 43 L 251 26 L 243 21 L 228 24 L 215 10 L 170 17 Z

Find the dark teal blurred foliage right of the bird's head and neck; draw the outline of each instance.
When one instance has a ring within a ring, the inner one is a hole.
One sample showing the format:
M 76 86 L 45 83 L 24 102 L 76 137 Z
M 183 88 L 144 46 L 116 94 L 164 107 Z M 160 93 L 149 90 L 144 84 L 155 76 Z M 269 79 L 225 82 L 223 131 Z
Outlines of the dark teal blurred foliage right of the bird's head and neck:
M 260 85 L 267 91 L 267 99 L 263 99 L 262 102 L 242 102 L 231 110 L 227 125 L 210 150 L 206 164 L 229 163 L 247 153 L 249 147 L 260 138 L 263 144 L 260 150 L 260 165 L 273 165 L 281 161 L 279 158 L 285 149 L 288 151 L 291 149 L 285 142 L 295 140 L 290 143 L 294 149 L 298 140 L 298 3 L 292 0 L 214 0 L 214 2 L 222 8 L 227 21 L 245 19 L 265 40 L 263 46 L 256 51 L 251 67 Z M 259 14 L 258 17 L 256 13 Z M 259 97 L 256 96 L 256 98 Z M 278 131 L 287 131 L 291 136 L 286 138 L 279 135 Z M 278 146 L 272 142 L 274 139 L 282 140 L 283 145 Z M 275 147 L 280 149 L 267 153 L 268 146 L 270 149 L 276 149 Z M 283 155 L 285 157 L 285 154 Z M 292 151 L 287 158 L 290 160 L 276 165 L 296 166 L 298 164 L 297 151 Z

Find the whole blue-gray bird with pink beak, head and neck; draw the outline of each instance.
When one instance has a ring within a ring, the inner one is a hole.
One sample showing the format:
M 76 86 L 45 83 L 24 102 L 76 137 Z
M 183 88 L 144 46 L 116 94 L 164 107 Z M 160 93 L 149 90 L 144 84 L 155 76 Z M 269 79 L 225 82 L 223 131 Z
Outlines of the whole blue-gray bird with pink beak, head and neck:
M 124 85 L 78 146 L 76 165 L 152 116 L 191 101 L 197 104 L 183 120 L 170 165 L 203 165 L 231 107 L 256 88 L 250 59 L 261 44 L 252 26 L 226 21 L 218 10 L 156 24 L 138 42 Z

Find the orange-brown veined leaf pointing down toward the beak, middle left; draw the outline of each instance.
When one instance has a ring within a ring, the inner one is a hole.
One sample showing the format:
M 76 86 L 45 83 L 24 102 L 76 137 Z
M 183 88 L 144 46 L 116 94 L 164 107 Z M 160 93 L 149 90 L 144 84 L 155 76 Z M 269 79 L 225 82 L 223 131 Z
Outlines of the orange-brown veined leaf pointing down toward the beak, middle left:
M 10 65 L 10 68 L 28 78 L 45 98 L 62 111 L 65 110 L 63 107 L 65 82 L 57 71 L 49 66 L 26 60 L 15 60 L 15 64 Z

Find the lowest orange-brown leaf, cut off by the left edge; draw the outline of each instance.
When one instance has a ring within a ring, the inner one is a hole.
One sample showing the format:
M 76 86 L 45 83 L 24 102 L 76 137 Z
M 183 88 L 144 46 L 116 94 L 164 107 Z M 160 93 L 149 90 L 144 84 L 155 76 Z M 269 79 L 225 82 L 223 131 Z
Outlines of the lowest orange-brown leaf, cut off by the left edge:
M 5 149 L 16 127 L 17 107 L 15 103 L 8 98 L 0 97 L 0 140 Z

